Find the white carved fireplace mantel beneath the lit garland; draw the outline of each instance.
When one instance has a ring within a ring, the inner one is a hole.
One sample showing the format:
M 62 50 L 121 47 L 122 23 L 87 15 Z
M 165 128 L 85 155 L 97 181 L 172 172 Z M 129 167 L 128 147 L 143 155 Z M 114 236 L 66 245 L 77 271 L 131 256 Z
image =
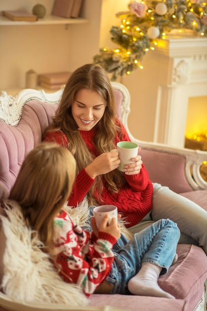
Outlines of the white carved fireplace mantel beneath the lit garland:
M 161 68 L 154 142 L 184 147 L 189 98 L 207 96 L 207 38 L 169 37 L 153 53 Z

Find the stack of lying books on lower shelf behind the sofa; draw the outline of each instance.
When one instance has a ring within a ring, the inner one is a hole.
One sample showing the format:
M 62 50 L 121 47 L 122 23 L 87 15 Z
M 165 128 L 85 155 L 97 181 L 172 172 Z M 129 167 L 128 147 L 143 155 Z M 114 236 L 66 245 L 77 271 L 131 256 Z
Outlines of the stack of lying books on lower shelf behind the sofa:
M 38 76 L 40 86 L 48 89 L 60 89 L 67 83 L 70 72 L 41 74 Z

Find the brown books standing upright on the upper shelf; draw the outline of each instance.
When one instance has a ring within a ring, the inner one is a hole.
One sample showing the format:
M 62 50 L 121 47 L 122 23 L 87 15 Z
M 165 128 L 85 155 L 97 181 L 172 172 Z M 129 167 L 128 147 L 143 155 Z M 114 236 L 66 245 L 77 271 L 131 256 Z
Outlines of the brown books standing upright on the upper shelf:
M 52 14 L 61 17 L 78 17 L 83 0 L 55 0 Z

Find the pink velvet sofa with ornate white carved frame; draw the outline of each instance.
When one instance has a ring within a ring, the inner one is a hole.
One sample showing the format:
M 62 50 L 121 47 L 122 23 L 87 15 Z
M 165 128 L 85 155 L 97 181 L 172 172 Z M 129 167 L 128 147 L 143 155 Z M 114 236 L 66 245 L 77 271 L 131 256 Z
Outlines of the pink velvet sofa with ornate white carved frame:
M 175 149 L 134 138 L 127 123 L 130 113 L 129 91 L 118 82 L 112 82 L 112 85 L 117 114 L 131 139 L 141 147 L 142 160 L 152 182 L 169 186 L 207 210 L 207 183 L 202 179 L 199 170 L 202 161 L 207 160 L 207 152 Z M 0 92 L 0 199 L 8 196 L 25 155 L 41 142 L 42 133 L 51 122 L 61 94 L 62 91 L 47 94 L 33 89 L 22 90 L 15 96 Z M 4 271 L 3 249 L 1 241 L 0 277 Z M 160 287 L 174 295 L 175 300 L 94 294 L 88 307 L 67 306 L 64 309 L 51 305 L 47 309 L 41 309 L 40 306 L 15 301 L 0 292 L 0 311 L 206 311 L 207 256 L 202 248 L 189 244 L 179 244 L 177 253 L 177 263 L 170 267 L 166 275 L 159 278 Z

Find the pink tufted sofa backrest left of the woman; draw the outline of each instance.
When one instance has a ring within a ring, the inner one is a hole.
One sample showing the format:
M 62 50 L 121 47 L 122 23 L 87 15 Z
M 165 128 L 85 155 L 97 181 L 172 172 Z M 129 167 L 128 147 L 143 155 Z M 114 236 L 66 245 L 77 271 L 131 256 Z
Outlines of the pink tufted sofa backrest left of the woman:
M 0 122 L 0 198 L 8 197 L 24 157 L 42 140 L 56 104 L 32 99 L 16 127 Z

